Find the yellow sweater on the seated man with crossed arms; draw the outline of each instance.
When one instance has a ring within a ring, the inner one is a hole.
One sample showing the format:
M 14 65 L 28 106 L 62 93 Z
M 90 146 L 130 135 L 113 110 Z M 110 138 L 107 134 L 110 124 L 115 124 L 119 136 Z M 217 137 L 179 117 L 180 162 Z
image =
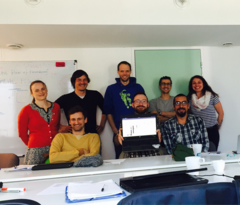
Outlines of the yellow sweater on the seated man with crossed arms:
M 89 150 L 89 154 L 79 156 L 77 149 L 84 148 Z M 51 144 L 49 159 L 54 162 L 75 162 L 83 156 L 93 156 L 99 154 L 100 139 L 98 134 L 89 133 L 79 140 L 71 133 L 58 133 Z

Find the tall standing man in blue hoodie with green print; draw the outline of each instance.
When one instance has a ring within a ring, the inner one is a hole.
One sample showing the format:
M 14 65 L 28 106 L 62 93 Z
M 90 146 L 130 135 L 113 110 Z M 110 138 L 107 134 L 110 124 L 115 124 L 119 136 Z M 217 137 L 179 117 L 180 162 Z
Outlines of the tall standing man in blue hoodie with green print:
M 132 108 L 132 96 L 138 92 L 144 92 L 141 85 L 136 83 L 136 78 L 130 77 L 131 65 L 126 61 L 118 64 L 118 75 L 116 83 L 107 87 L 104 97 L 104 111 L 106 112 L 108 122 L 113 131 L 113 137 L 118 134 L 121 121 L 121 115 L 134 114 Z M 115 146 L 116 159 L 122 152 L 121 146 Z

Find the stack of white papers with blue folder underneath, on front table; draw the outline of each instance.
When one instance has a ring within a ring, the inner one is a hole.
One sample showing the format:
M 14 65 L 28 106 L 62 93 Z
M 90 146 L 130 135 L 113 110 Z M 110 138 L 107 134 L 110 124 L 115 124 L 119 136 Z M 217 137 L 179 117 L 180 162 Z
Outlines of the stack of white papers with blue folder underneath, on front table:
M 66 201 L 70 203 L 122 196 L 126 194 L 113 180 L 98 183 L 69 183 L 66 189 Z

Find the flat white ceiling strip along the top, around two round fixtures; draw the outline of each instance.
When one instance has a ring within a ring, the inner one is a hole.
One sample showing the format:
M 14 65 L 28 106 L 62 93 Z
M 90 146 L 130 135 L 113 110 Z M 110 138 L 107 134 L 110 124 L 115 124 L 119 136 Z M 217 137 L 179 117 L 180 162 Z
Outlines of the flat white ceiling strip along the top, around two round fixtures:
M 239 0 L 43 0 L 36 8 L 24 0 L 0 1 L 0 24 L 83 25 L 237 25 Z

